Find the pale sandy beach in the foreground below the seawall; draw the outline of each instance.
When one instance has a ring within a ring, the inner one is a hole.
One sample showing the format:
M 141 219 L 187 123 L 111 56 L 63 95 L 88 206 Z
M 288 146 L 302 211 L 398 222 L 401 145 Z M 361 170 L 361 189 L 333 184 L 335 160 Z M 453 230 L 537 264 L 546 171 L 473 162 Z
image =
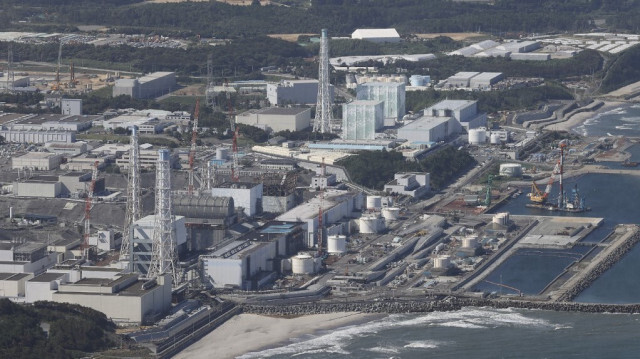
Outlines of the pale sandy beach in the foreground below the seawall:
M 380 314 L 331 313 L 296 318 L 267 317 L 240 314 L 193 345 L 178 353 L 176 359 L 226 359 L 286 344 L 291 338 L 361 323 L 380 317 Z

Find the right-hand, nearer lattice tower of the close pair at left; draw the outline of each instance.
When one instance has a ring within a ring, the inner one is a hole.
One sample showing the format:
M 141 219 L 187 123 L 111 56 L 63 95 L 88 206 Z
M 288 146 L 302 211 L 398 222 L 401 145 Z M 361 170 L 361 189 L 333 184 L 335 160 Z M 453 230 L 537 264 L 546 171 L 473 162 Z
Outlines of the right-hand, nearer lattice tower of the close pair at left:
M 151 245 L 151 264 L 149 278 L 170 274 L 176 286 L 178 263 L 176 238 L 173 234 L 173 216 L 171 215 L 171 171 L 169 168 L 169 150 L 158 151 L 156 163 L 156 209 Z

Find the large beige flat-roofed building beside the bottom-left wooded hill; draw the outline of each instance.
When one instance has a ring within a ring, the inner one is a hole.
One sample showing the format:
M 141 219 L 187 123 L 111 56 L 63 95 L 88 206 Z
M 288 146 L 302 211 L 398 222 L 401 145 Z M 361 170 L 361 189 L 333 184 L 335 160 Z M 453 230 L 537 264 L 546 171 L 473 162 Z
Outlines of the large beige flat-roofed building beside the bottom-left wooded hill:
M 171 307 L 171 277 L 141 280 L 130 273 L 115 279 L 83 278 L 60 283 L 52 300 L 95 309 L 118 323 L 151 323 Z

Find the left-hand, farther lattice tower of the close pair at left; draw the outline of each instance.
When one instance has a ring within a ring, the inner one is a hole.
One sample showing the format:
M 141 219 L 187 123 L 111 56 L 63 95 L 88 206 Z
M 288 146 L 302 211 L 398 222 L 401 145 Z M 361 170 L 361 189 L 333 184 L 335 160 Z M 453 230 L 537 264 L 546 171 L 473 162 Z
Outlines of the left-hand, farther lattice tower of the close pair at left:
M 127 212 L 122 231 L 120 260 L 129 258 L 131 251 L 131 225 L 142 217 L 140 204 L 140 147 L 138 146 L 138 126 L 131 127 L 131 148 L 129 149 L 129 178 L 127 181 Z

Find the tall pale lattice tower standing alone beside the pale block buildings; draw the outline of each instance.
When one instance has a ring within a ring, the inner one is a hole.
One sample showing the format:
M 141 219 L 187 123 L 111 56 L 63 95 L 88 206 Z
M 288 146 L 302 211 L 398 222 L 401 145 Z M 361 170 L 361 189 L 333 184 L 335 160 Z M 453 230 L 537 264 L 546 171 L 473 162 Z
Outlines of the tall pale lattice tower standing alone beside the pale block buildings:
M 327 29 L 322 29 L 320 38 L 320 61 L 318 64 L 318 102 L 313 131 L 331 133 L 331 93 L 329 93 L 329 39 Z

